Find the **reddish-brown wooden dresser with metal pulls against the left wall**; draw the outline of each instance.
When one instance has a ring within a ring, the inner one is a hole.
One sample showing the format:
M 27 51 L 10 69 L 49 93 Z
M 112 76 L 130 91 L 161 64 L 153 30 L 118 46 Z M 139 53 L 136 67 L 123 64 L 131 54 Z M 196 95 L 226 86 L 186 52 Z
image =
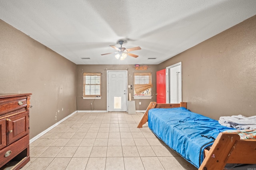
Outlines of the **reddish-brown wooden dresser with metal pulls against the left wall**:
M 18 170 L 29 162 L 28 94 L 0 94 L 0 170 Z

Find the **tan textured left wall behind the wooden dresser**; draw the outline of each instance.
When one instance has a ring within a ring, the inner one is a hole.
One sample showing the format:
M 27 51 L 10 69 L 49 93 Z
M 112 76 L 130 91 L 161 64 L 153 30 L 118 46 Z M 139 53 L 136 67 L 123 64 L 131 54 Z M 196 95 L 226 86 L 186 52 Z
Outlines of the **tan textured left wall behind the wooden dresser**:
M 76 111 L 76 64 L 0 20 L 0 93 L 32 93 L 31 139 Z

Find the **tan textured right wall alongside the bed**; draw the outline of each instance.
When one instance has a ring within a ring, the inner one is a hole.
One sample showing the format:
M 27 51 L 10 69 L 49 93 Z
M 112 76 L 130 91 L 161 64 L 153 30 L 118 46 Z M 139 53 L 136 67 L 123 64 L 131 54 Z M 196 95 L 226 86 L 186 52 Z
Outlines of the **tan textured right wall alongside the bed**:
M 158 65 L 182 61 L 182 99 L 213 119 L 256 115 L 256 16 Z

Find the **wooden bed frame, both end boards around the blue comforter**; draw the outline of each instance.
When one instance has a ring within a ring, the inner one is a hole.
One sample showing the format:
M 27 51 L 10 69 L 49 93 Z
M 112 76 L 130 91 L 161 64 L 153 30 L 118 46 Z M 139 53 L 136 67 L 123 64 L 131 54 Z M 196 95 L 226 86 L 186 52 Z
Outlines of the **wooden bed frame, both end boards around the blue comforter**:
M 148 121 L 148 111 L 153 108 L 185 107 L 186 102 L 180 104 L 157 104 L 150 102 L 138 128 L 142 128 Z M 236 133 L 220 133 L 210 150 L 204 150 L 204 161 L 199 170 L 222 170 L 228 164 L 256 164 L 256 139 L 240 139 Z

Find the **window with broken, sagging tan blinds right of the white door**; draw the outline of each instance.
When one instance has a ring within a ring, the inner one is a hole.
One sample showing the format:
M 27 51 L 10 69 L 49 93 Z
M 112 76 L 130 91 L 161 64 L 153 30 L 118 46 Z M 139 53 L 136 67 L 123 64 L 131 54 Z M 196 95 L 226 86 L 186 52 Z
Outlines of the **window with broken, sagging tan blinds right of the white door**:
M 134 98 L 152 98 L 152 87 L 151 72 L 134 72 Z

